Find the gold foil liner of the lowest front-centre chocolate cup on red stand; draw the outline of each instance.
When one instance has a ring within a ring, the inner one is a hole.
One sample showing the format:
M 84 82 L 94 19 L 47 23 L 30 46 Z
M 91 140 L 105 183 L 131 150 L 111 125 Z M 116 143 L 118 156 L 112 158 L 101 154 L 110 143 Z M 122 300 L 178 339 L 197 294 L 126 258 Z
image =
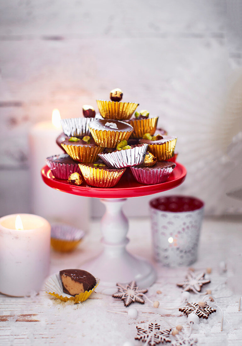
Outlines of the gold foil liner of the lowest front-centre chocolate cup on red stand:
M 108 170 L 99 167 L 90 167 L 85 164 L 79 164 L 82 175 L 88 185 L 97 188 L 113 188 L 125 172 L 125 168 Z

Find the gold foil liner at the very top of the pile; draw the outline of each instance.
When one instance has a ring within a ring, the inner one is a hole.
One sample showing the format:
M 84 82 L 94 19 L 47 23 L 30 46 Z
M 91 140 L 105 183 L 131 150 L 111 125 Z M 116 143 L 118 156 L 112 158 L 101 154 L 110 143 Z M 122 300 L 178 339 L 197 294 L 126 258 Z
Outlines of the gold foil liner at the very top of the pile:
M 138 103 L 97 100 L 98 108 L 104 119 L 128 120 Z

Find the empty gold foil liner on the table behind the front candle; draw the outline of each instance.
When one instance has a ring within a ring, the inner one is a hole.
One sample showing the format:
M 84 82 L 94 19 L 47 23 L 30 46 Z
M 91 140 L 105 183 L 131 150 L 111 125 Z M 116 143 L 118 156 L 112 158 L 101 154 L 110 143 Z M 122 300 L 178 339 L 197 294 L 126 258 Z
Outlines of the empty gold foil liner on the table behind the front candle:
M 55 223 L 51 225 L 51 246 L 55 251 L 71 252 L 78 246 L 84 235 L 85 232 L 81 229 Z

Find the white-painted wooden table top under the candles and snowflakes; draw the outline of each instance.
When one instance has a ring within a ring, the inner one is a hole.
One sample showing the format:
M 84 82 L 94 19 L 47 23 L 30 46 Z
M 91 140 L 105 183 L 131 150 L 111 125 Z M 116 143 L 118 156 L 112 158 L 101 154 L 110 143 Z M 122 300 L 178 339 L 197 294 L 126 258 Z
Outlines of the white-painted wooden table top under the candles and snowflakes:
M 197 330 L 192 334 L 198 338 L 198 345 L 242 345 L 242 311 L 238 311 L 239 295 L 230 290 L 225 283 L 233 269 L 239 267 L 236 253 L 242 248 L 242 227 L 239 221 L 204 220 L 200 239 L 199 258 L 194 264 L 195 269 L 212 267 L 211 283 L 203 290 L 211 288 L 219 298 L 217 303 L 224 311 L 224 318 L 230 321 L 230 328 L 224 321 L 224 331 L 220 331 L 220 312 L 217 311 L 206 320 L 200 320 Z M 149 219 L 130 220 L 128 245 L 133 254 L 142 255 L 152 261 L 151 232 Z M 61 269 L 79 266 L 88 258 L 100 251 L 99 222 L 93 221 L 91 232 L 85 238 L 77 251 L 71 254 L 52 252 L 51 273 Z M 219 273 L 219 263 L 228 264 L 226 273 Z M 182 281 L 187 268 L 169 269 L 154 264 L 158 271 L 157 282 L 149 288 L 147 296 L 160 301 L 160 307 L 177 307 L 181 302 L 181 289 L 176 283 Z M 0 278 L 2 280 L 3 278 Z M 238 282 L 241 276 L 237 277 Z M 17 283 L 16 283 L 17 284 Z M 156 294 L 161 290 L 162 294 Z M 238 293 L 238 292 L 237 292 Z M 197 295 L 192 295 L 192 302 L 199 301 Z M 52 299 L 42 291 L 39 295 L 28 298 L 10 298 L 0 295 L 0 345 L 112 345 L 122 346 L 125 341 L 134 345 L 142 342 L 134 340 L 136 324 L 146 322 L 146 316 L 156 316 L 160 313 L 163 318 L 174 325 L 182 324 L 185 331 L 186 316 L 176 310 L 167 311 L 155 309 L 149 302 L 144 305 L 132 304 L 137 308 L 139 316 L 136 321 L 127 315 L 107 312 L 127 311 L 122 301 L 115 300 L 109 295 L 93 293 L 91 298 L 82 304 L 62 303 Z M 162 326 L 168 325 L 162 321 Z

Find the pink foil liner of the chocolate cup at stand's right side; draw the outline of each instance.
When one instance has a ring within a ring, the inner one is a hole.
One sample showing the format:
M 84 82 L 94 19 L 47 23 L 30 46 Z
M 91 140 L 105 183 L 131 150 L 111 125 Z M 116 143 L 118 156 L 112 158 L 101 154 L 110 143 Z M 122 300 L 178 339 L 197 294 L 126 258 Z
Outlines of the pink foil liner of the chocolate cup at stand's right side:
M 153 185 L 160 184 L 169 178 L 172 167 L 152 168 L 152 167 L 130 167 L 133 176 L 141 184 Z

